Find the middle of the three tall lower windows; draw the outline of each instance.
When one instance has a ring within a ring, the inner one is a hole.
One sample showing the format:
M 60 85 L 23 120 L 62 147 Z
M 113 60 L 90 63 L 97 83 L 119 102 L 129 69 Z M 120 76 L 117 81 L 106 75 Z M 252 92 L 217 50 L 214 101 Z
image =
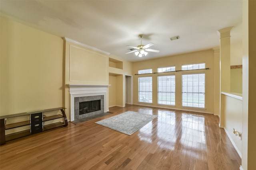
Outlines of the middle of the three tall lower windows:
M 175 76 L 158 76 L 158 104 L 175 105 Z

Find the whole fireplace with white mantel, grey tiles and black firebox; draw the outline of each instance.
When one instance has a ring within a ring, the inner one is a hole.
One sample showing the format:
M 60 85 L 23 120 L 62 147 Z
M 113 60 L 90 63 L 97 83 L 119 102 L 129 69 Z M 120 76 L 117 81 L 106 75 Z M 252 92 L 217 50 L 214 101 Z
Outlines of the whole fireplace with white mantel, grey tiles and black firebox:
M 108 86 L 69 84 L 70 121 L 107 112 Z

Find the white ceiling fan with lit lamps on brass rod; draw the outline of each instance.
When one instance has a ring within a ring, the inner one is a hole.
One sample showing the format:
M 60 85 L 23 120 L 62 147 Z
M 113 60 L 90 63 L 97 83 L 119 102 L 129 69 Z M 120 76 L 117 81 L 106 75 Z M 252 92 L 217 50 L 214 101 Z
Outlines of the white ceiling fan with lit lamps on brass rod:
M 140 45 L 138 45 L 137 47 L 132 47 L 132 46 L 127 45 L 127 47 L 131 47 L 132 49 L 129 49 L 131 51 L 128 52 L 128 53 L 125 53 L 125 54 L 135 53 L 136 56 L 142 57 L 142 56 L 146 56 L 148 54 L 147 51 L 155 52 L 155 53 L 160 52 L 159 50 L 148 49 L 148 47 L 151 47 L 152 45 L 154 45 L 154 43 L 149 43 L 147 45 L 142 45 L 143 35 L 139 35 L 139 37 L 140 37 Z

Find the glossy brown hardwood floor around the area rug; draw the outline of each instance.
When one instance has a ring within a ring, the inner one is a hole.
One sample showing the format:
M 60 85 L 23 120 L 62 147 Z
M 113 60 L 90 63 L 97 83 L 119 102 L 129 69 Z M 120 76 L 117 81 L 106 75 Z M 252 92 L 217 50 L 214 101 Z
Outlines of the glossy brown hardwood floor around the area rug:
M 158 117 L 131 136 L 94 123 L 129 110 Z M 239 170 L 241 158 L 217 116 L 136 105 L 110 112 L 7 142 L 0 169 Z

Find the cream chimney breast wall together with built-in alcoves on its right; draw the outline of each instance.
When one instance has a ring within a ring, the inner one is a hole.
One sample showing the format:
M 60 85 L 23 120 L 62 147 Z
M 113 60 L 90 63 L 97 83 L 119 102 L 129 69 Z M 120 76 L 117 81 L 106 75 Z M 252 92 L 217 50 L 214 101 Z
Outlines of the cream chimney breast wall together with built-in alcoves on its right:
M 110 85 L 109 106 L 125 106 L 125 74 L 132 73 L 132 63 L 94 51 L 77 41 L 65 41 L 65 106 L 69 119 L 70 95 L 68 84 Z M 116 61 L 113 62 L 113 61 Z M 117 67 L 117 68 L 116 68 Z M 111 102 L 110 102 L 111 101 Z

